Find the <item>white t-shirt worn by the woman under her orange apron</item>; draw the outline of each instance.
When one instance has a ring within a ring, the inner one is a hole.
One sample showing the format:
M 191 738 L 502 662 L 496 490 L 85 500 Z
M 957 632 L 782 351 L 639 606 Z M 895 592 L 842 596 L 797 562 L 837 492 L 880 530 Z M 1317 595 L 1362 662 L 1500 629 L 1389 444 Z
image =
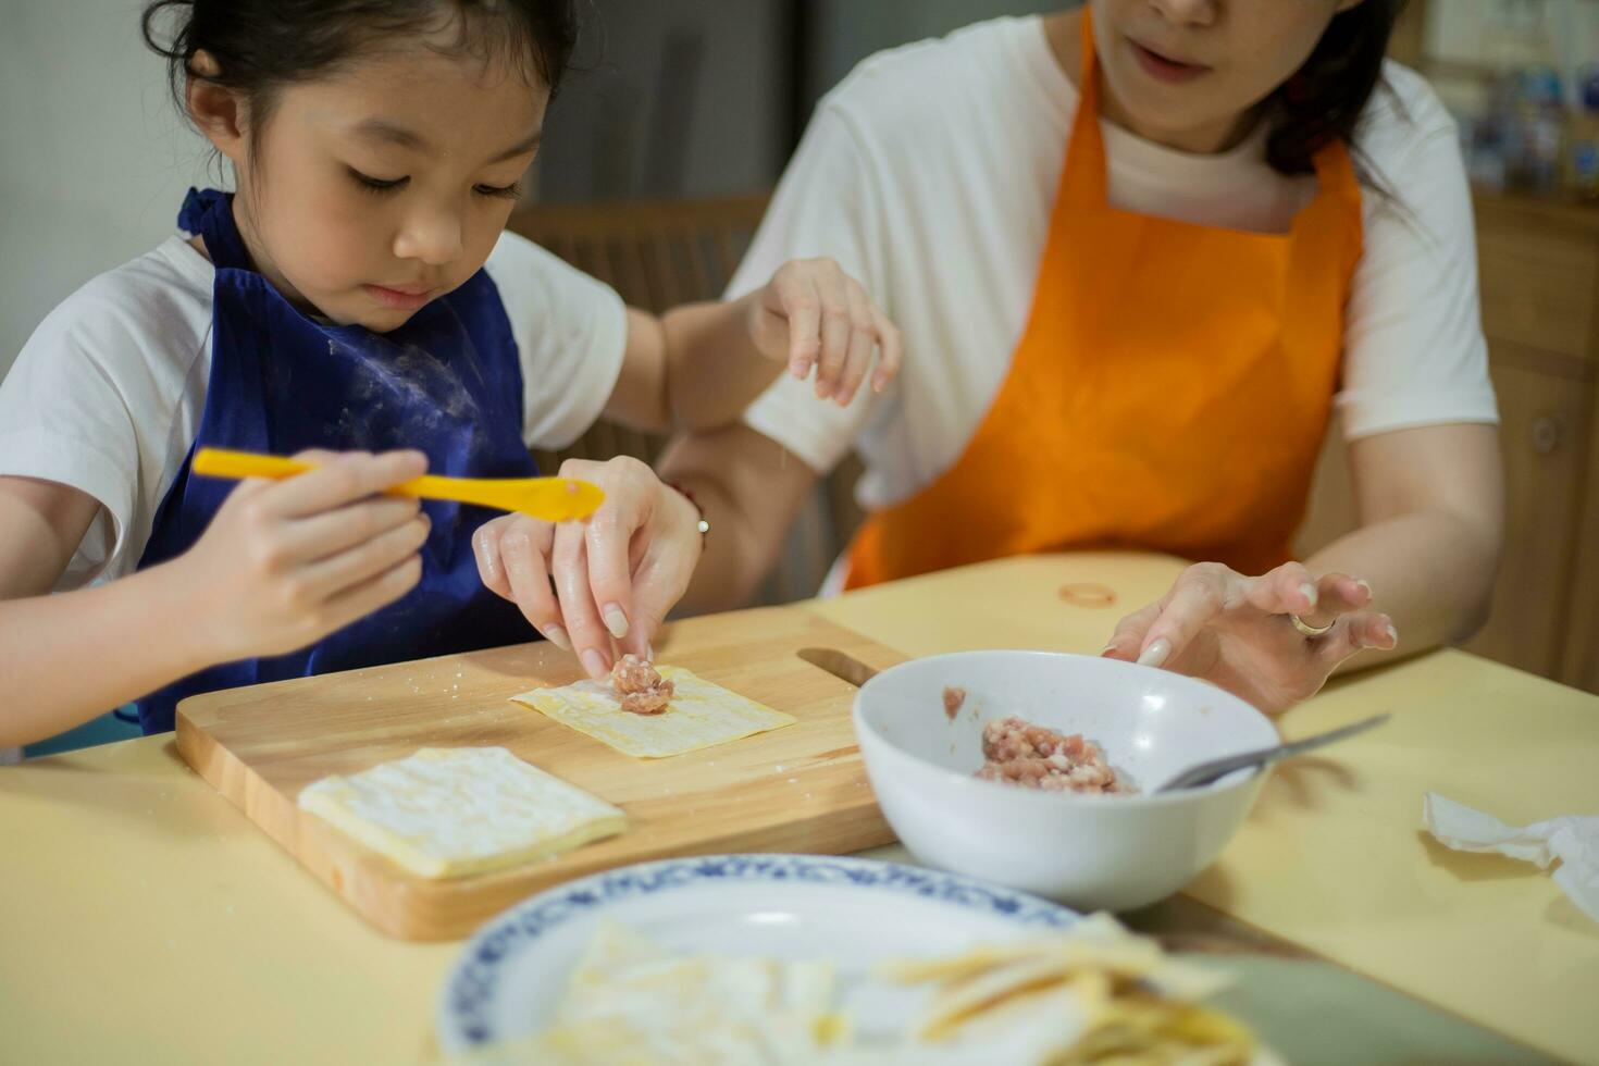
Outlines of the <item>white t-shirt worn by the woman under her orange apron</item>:
M 1356 158 L 1402 200 L 1364 190 L 1364 256 L 1345 313 L 1337 409 L 1348 438 L 1495 422 L 1477 310 L 1471 197 L 1455 126 L 1388 64 Z M 879 508 L 955 463 L 993 404 L 1027 321 L 1078 91 L 1039 18 L 996 19 L 865 61 L 817 109 L 728 296 L 788 259 L 831 256 L 905 336 L 905 369 L 849 409 L 784 377 L 745 422 L 817 471 L 859 449 Z M 1265 161 L 1265 129 L 1188 155 L 1102 123 L 1111 201 L 1142 214 L 1284 232 L 1313 176 Z M 1094 254 L 1094 249 L 1083 249 Z

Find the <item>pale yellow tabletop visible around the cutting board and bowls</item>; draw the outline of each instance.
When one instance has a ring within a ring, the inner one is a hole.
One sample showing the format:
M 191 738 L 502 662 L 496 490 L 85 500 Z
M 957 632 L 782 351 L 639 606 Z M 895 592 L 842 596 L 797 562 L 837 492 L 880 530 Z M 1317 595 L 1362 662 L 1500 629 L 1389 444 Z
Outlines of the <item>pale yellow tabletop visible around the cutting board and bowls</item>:
M 1012 559 L 815 609 L 911 655 L 1095 652 L 1177 571 L 1151 556 Z M 1103 583 L 1118 603 L 1070 606 L 1067 582 Z M 1190 895 L 1527 1045 L 1599 1061 L 1599 924 L 1532 866 L 1418 834 L 1428 790 L 1511 823 L 1599 812 L 1599 698 L 1441 652 L 1335 686 L 1284 732 L 1378 708 L 1396 721 L 1279 770 Z M 0 1061 L 417 1061 L 456 951 L 371 930 L 169 735 L 0 767 Z

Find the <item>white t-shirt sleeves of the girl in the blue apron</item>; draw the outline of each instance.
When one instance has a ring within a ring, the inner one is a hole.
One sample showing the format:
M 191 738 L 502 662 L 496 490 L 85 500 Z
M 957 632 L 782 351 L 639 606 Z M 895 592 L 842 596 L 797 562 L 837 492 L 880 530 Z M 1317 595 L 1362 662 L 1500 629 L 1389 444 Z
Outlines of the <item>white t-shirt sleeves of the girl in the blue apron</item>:
M 622 299 L 515 235 L 484 264 L 524 382 L 523 436 L 558 449 L 600 417 L 627 345 Z M 82 489 L 101 510 L 58 590 L 133 572 L 200 430 L 214 268 L 171 237 L 69 296 L 0 382 L 0 475 Z

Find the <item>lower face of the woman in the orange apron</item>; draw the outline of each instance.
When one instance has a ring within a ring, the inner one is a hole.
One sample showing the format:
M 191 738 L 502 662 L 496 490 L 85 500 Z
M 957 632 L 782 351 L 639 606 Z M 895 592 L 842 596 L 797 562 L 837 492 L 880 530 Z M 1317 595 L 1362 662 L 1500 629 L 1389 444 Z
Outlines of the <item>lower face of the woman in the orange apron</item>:
M 1161 144 L 1218 152 L 1254 107 L 1361 0 L 1091 0 L 1107 118 Z

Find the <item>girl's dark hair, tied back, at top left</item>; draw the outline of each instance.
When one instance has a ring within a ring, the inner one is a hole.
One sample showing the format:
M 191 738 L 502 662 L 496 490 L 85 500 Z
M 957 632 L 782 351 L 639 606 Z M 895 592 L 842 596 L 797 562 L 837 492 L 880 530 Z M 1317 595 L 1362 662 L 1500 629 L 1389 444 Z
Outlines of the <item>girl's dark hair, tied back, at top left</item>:
M 205 78 L 249 101 L 256 136 L 277 89 L 334 74 L 363 46 L 401 34 L 454 30 L 435 46 L 507 59 L 553 94 L 577 42 L 577 13 L 572 0 L 155 0 L 144 8 L 142 29 L 144 42 L 166 59 L 179 112 L 187 112 L 187 80 Z M 214 75 L 193 69 L 198 51 L 216 61 Z

